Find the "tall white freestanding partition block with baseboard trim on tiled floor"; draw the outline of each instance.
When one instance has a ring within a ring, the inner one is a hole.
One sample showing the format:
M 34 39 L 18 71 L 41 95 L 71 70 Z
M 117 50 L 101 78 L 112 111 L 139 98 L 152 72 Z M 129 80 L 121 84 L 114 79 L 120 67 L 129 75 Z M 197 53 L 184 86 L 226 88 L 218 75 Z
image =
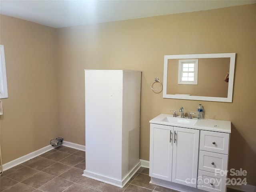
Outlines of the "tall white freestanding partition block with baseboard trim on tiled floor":
M 83 176 L 123 187 L 140 167 L 141 72 L 85 70 Z

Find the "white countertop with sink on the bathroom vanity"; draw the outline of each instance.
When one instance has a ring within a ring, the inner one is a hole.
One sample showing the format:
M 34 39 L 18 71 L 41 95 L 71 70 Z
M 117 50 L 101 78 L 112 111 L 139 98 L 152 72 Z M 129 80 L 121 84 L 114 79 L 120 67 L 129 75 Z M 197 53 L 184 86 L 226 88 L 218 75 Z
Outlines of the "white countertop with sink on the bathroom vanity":
M 166 117 L 168 117 L 170 120 L 177 120 L 176 118 L 180 118 L 180 116 L 173 117 L 173 115 L 170 115 L 170 114 L 160 114 L 155 118 L 153 118 L 152 120 L 150 120 L 149 122 L 154 124 L 169 125 L 169 126 L 175 126 L 175 127 L 184 127 L 184 128 L 192 128 L 192 129 L 199 129 L 199 130 L 231 133 L 230 121 L 192 118 L 192 121 L 197 120 L 196 123 L 192 125 L 192 124 L 184 124 L 184 123 L 180 124 L 175 121 L 167 122 L 167 121 L 164 121 Z M 182 120 L 190 121 L 188 117 L 182 118 Z

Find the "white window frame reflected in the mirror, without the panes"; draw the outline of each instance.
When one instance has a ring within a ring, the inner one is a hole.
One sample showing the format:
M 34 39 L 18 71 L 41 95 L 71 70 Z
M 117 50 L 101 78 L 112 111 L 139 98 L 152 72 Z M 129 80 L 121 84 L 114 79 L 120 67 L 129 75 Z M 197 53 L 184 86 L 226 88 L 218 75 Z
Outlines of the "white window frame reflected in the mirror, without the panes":
M 182 81 L 182 63 L 194 63 L 194 81 Z M 179 60 L 178 68 L 178 84 L 197 85 L 198 80 L 198 59 L 182 59 Z

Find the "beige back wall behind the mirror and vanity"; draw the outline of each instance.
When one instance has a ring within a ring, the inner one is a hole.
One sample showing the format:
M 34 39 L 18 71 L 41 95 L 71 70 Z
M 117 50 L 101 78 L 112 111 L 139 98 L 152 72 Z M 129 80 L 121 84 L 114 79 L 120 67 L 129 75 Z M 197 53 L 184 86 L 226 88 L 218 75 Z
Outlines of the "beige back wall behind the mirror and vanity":
M 183 106 L 205 117 L 232 122 L 230 168 L 248 170 L 256 185 L 255 51 L 256 6 L 174 14 L 58 29 L 61 133 L 84 140 L 84 69 L 142 71 L 140 158 L 149 160 L 149 123 Z M 236 52 L 232 103 L 163 99 L 150 82 L 163 79 L 164 55 Z

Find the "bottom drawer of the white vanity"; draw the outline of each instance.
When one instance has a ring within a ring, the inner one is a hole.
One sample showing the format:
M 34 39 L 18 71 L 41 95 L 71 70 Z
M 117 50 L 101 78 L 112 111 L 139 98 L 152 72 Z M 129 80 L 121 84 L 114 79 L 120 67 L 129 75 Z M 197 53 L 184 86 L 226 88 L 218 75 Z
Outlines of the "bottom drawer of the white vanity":
M 226 176 L 198 170 L 197 188 L 208 192 L 226 192 Z

